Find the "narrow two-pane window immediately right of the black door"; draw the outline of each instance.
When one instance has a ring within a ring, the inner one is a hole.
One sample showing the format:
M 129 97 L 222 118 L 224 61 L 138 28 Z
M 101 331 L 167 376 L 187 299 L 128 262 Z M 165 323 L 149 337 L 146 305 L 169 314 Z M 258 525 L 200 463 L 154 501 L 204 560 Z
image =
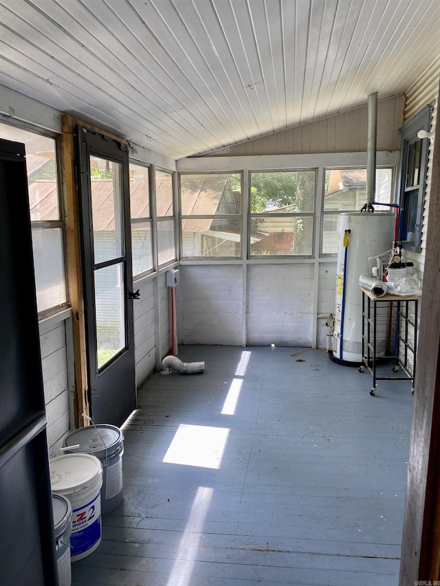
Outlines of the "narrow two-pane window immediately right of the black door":
M 149 168 L 130 164 L 131 256 L 133 278 L 153 269 Z

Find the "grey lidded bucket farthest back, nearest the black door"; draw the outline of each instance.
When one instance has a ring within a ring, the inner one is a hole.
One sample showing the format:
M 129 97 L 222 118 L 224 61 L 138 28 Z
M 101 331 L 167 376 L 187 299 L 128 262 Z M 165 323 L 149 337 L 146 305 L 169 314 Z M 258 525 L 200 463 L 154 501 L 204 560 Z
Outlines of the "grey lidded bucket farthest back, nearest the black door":
M 89 453 L 102 464 L 101 511 L 110 512 L 122 502 L 122 455 L 124 435 L 115 425 L 88 425 L 72 431 L 64 440 L 69 453 Z M 78 446 L 78 447 L 73 447 Z

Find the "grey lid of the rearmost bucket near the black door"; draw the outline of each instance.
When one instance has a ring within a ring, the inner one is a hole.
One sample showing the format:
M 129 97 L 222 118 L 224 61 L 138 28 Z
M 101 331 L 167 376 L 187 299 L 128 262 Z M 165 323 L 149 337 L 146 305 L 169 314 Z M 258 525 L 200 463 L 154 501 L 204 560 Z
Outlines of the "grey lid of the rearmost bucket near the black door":
M 118 450 L 123 441 L 124 436 L 119 427 L 99 423 L 72 431 L 65 438 L 64 444 L 65 447 L 79 445 L 71 450 L 72 453 L 91 453 L 96 458 L 105 458 Z

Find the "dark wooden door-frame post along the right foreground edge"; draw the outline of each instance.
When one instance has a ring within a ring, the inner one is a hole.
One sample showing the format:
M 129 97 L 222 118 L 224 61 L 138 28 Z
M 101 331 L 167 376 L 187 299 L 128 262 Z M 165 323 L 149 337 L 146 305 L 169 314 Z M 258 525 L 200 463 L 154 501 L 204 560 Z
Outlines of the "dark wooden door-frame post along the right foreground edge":
M 437 100 L 438 104 L 438 100 Z M 428 207 L 425 272 L 400 586 L 440 580 L 440 122 L 437 122 Z

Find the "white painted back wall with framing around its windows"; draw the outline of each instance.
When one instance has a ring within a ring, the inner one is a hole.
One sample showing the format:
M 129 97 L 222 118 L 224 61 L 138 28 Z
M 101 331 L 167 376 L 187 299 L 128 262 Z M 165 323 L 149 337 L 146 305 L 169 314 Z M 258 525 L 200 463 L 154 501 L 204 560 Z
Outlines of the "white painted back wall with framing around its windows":
M 396 168 L 398 161 L 399 153 L 377 153 L 377 165 Z M 243 170 L 246 176 L 250 170 L 317 168 L 322 178 L 325 168 L 350 166 L 366 166 L 366 153 L 197 157 L 178 161 L 177 170 Z M 180 261 L 179 343 L 327 347 L 336 254 L 318 256 L 322 197 L 318 180 L 314 258 Z

